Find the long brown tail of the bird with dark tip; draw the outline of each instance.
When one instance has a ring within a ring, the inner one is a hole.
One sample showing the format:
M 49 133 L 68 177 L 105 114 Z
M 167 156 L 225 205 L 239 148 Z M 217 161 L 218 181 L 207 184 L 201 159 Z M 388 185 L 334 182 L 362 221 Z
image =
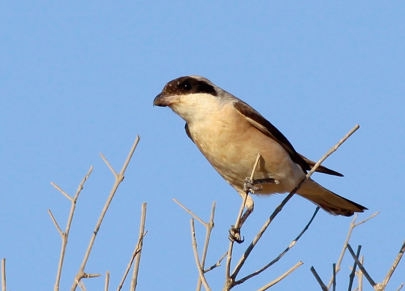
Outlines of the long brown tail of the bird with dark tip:
M 308 179 L 297 194 L 334 215 L 351 216 L 354 212 L 367 210 L 366 207 L 323 188 L 312 179 Z

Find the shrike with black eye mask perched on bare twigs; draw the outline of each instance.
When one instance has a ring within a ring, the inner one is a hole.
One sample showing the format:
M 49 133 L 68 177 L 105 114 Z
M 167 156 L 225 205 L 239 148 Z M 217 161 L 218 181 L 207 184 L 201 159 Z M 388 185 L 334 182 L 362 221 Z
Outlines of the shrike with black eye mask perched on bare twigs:
M 288 139 L 250 105 L 200 76 L 180 77 L 166 84 L 153 100 L 169 106 L 185 120 L 188 137 L 215 170 L 245 199 L 245 178 L 255 174 L 257 194 L 289 193 L 315 164 L 296 152 Z M 343 176 L 320 166 L 318 172 Z M 297 192 L 334 215 L 351 216 L 367 208 L 308 179 Z M 253 210 L 248 196 L 247 210 Z

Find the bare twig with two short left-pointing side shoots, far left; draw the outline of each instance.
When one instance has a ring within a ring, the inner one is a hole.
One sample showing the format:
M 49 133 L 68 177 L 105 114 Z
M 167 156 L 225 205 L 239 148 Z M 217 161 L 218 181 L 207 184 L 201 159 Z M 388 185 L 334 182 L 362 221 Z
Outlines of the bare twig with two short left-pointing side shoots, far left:
M 56 282 L 55 282 L 55 286 L 54 286 L 54 291 L 59 290 L 60 277 L 62 275 L 62 267 L 63 267 L 64 258 L 65 258 L 67 240 L 68 240 L 68 237 L 69 237 L 70 226 L 71 226 L 72 220 L 73 220 L 74 210 L 76 209 L 77 198 L 79 197 L 80 192 L 82 192 L 83 186 L 85 185 L 85 183 L 86 183 L 87 179 L 89 178 L 92 171 L 93 171 L 93 166 L 90 167 L 90 170 L 87 172 L 86 176 L 80 182 L 79 187 L 77 188 L 76 194 L 74 195 L 73 198 L 70 197 L 66 192 L 64 192 L 58 185 L 51 182 L 52 186 L 54 186 L 57 190 L 59 190 L 71 202 L 70 212 L 69 212 L 69 216 L 68 216 L 68 219 L 67 219 L 65 232 L 63 232 L 61 230 L 61 228 L 59 227 L 58 223 L 56 222 L 56 219 L 55 219 L 54 215 L 52 214 L 51 209 L 48 209 L 48 213 L 49 213 L 49 215 L 51 215 L 51 219 L 52 219 L 53 223 L 55 224 L 55 227 L 58 230 L 59 234 L 62 237 L 62 247 L 61 247 L 61 250 L 60 250 L 59 266 L 58 266 L 58 272 L 57 272 L 57 275 L 56 275 Z

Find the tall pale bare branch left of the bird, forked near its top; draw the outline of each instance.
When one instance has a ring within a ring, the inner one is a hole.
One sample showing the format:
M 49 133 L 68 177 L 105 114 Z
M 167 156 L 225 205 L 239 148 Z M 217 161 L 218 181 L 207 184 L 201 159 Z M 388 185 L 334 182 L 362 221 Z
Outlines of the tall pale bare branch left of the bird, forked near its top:
M 93 248 L 94 241 L 96 240 L 97 233 L 98 233 L 98 231 L 100 229 L 101 223 L 103 222 L 105 213 L 107 212 L 108 207 L 111 204 L 112 198 L 114 197 L 114 194 L 118 189 L 119 184 L 124 180 L 125 170 L 127 169 L 127 166 L 128 166 L 128 164 L 129 164 L 129 162 L 130 162 L 130 160 L 132 158 L 132 155 L 134 154 L 134 151 L 135 151 L 135 149 L 136 149 L 136 147 L 138 145 L 139 139 L 140 139 L 140 137 L 138 135 L 135 142 L 134 142 L 134 144 L 132 145 L 132 148 L 131 148 L 131 151 L 130 151 L 128 157 L 127 157 L 127 160 L 125 161 L 124 166 L 121 169 L 121 171 L 119 172 L 119 174 L 115 173 L 115 171 L 112 169 L 112 167 L 109 165 L 109 163 L 103 157 L 104 161 L 106 161 L 106 163 L 107 163 L 108 167 L 110 168 L 110 170 L 114 173 L 115 183 L 114 183 L 114 185 L 113 185 L 113 187 L 111 189 L 110 195 L 108 196 L 107 201 L 106 201 L 106 203 L 104 205 L 104 208 L 101 211 L 100 217 L 99 217 L 99 219 L 98 219 L 98 221 L 96 223 L 96 227 L 95 227 L 94 232 L 92 234 L 92 237 L 90 239 L 89 246 L 87 247 L 86 254 L 85 254 L 85 257 L 83 259 L 82 265 L 80 265 L 79 271 L 77 272 L 77 274 L 75 276 L 75 279 L 73 281 L 72 287 L 70 288 L 71 291 L 74 291 L 76 289 L 77 282 L 79 282 L 82 278 L 86 277 L 86 273 L 85 273 L 84 270 L 85 270 L 87 261 L 89 260 L 90 252 L 91 252 L 91 250 Z

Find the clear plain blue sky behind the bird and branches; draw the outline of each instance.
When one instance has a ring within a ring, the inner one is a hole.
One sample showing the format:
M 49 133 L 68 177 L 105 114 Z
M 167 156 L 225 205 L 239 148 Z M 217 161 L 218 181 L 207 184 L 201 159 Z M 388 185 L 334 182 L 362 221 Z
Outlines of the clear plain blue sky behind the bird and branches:
M 317 160 L 355 124 L 360 129 L 315 174 L 318 183 L 381 213 L 359 226 L 365 265 L 382 281 L 405 239 L 405 4 L 378 1 L 3 2 L 0 4 L 0 257 L 8 289 L 53 288 L 60 250 L 47 209 L 65 226 L 79 197 L 62 273 L 70 287 L 113 184 L 99 157 L 118 170 L 136 135 L 138 149 L 105 217 L 86 271 L 111 272 L 116 288 L 148 203 L 140 290 L 195 288 L 189 215 L 204 220 L 217 201 L 207 264 L 227 250 L 240 198 L 184 133 L 184 122 L 152 101 L 170 80 L 202 75 L 255 107 L 306 157 Z M 257 197 L 247 241 L 282 195 Z M 272 260 L 301 231 L 314 206 L 294 197 L 277 216 L 243 274 Z M 298 261 L 272 290 L 319 290 L 339 257 L 350 218 L 318 213 L 299 243 L 265 274 L 235 290 L 257 289 Z M 200 245 L 204 229 L 197 226 Z M 235 258 L 247 247 L 237 246 Z M 346 289 L 345 257 L 338 289 Z M 405 281 L 401 262 L 388 289 Z M 221 289 L 224 266 L 207 276 Z M 85 281 L 102 289 L 104 277 Z M 164 286 L 164 287 L 163 287 Z M 367 288 L 370 289 L 370 288 Z

